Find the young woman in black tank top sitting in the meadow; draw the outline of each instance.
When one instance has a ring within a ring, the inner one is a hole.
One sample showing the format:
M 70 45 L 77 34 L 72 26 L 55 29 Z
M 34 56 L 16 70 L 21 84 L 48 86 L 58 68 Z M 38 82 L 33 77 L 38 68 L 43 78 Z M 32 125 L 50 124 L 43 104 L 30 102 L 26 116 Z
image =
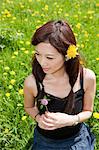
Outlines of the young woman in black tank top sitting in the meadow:
M 67 22 L 49 21 L 32 37 L 32 74 L 24 82 L 24 107 L 37 122 L 32 150 L 93 150 L 84 123 L 92 115 L 95 74 L 80 65 Z

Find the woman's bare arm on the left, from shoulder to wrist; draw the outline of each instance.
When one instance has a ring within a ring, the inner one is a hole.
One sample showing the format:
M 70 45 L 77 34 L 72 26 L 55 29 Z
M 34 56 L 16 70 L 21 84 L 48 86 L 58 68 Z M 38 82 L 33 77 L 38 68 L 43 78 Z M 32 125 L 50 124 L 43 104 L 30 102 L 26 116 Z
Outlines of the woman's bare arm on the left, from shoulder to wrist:
M 34 101 L 36 93 L 35 79 L 33 75 L 30 75 L 24 81 L 24 109 L 33 119 L 39 112 Z

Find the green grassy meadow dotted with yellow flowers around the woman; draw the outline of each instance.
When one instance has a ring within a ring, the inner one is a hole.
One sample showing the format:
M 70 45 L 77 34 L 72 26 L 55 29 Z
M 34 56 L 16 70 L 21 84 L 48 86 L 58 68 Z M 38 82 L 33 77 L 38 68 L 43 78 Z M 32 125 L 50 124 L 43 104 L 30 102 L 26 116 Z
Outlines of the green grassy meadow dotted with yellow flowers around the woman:
M 70 23 L 85 66 L 96 74 L 94 113 L 87 123 L 96 136 L 95 150 L 99 150 L 98 9 L 98 0 L 0 0 L 1 150 L 27 149 L 33 136 L 35 121 L 24 111 L 23 84 L 31 74 L 31 37 L 51 19 Z

